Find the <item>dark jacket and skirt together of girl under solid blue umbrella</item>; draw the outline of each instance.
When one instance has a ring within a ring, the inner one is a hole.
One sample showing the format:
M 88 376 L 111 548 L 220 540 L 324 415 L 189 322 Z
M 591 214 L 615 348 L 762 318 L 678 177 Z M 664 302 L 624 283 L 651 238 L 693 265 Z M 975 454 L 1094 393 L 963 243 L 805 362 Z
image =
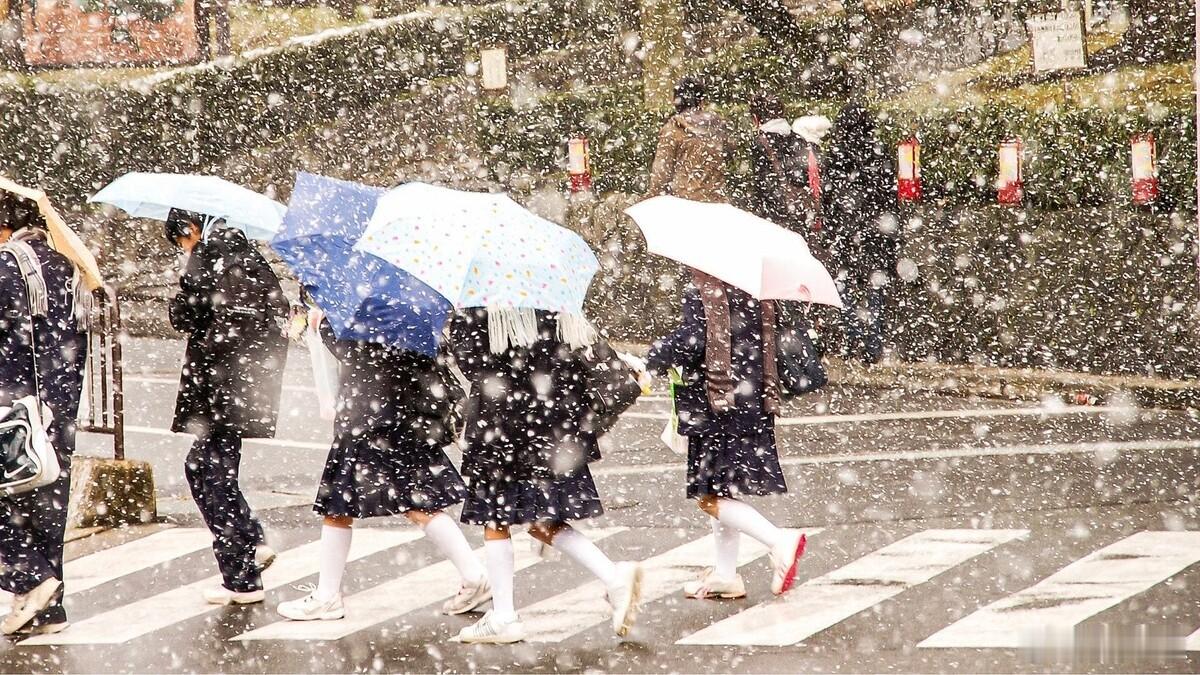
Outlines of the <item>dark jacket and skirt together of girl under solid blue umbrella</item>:
M 341 364 L 334 444 L 314 510 L 372 518 L 437 512 L 467 489 L 443 448 L 462 389 L 439 359 L 386 345 L 322 339 Z

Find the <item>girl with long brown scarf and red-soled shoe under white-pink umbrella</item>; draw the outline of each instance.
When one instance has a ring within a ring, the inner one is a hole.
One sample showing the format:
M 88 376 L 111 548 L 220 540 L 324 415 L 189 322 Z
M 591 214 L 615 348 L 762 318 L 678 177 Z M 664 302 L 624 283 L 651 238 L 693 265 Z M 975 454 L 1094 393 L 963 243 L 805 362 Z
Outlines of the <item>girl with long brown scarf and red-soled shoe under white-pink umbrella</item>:
M 713 317 L 718 317 L 715 321 Z M 650 348 L 647 365 L 683 371 L 677 392 L 679 434 L 688 437 L 688 497 L 712 519 L 716 565 L 684 585 L 692 598 L 739 598 L 739 532 L 770 548 L 776 595 L 792 587 L 805 539 L 780 530 L 746 496 L 787 491 L 775 449 L 779 375 L 775 306 L 694 270 L 683 322 Z

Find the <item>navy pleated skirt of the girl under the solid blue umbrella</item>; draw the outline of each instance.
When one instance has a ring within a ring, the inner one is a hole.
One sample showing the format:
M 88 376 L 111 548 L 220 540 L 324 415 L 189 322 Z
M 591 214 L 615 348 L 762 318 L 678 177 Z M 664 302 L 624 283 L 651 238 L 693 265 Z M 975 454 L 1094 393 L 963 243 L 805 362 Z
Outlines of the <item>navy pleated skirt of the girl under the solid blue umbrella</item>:
M 313 510 L 377 518 L 444 510 L 466 496 L 462 477 L 440 448 L 344 442 L 330 448 Z

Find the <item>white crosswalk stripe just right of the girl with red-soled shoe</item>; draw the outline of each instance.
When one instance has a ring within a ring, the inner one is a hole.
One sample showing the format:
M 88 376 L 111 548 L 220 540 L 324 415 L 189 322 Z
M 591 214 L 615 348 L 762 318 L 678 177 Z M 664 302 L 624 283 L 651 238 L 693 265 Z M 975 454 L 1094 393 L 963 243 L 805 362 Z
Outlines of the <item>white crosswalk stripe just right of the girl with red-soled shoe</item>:
M 1028 530 L 925 530 L 688 635 L 679 645 L 797 645 Z

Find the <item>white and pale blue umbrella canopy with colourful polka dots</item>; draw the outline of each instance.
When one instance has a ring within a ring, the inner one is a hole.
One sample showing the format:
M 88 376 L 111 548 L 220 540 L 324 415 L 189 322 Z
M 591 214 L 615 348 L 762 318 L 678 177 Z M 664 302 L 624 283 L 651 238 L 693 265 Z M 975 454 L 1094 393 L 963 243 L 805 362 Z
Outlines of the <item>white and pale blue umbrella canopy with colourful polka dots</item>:
M 457 307 L 582 316 L 595 253 L 506 195 L 409 183 L 379 199 L 356 250 L 430 285 Z

